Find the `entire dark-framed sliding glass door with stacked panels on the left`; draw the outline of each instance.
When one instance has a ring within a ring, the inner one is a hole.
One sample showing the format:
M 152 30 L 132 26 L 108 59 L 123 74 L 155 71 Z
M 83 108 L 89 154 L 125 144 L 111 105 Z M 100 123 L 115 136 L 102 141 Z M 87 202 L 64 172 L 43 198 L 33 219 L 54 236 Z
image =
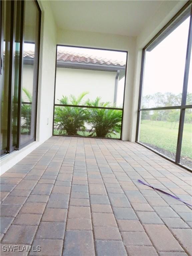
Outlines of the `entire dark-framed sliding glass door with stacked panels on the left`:
M 35 141 L 41 12 L 1 1 L 1 156 Z

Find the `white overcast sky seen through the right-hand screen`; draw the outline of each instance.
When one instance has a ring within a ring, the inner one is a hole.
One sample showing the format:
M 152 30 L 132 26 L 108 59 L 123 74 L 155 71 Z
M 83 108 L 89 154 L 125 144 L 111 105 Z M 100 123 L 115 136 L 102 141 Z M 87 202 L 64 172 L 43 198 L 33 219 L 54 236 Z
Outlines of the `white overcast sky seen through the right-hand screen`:
M 156 92 L 182 92 L 189 19 L 151 52 L 146 52 L 143 96 Z M 192 92 L 192 64 L 190 69 L 188 91 Z

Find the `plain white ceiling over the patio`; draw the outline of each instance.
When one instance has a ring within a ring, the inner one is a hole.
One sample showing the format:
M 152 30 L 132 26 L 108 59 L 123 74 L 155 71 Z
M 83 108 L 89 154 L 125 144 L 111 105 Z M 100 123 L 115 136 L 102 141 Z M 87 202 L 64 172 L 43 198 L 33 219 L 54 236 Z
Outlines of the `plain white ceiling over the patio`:
M 163 2 L 50 1 L 59 28 L 125 36 L 137 36 Z

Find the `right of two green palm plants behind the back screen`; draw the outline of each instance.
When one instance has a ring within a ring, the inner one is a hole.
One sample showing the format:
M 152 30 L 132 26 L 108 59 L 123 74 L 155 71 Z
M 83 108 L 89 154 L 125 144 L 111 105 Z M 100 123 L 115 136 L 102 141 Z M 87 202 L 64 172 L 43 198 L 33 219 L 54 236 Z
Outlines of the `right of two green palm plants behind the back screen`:
M 86 105 L 94 107 L 110 107 L 110 102 L 101 102 L 97 97 L 95 101 L 87 100 Z M 114 106 L 115 107 L 115 106 Z M 90 108 L 87 123 L 91 126 L 93 136 L 111 137 L 111 134 L 121 131 L 122 111 L 116 109 Z

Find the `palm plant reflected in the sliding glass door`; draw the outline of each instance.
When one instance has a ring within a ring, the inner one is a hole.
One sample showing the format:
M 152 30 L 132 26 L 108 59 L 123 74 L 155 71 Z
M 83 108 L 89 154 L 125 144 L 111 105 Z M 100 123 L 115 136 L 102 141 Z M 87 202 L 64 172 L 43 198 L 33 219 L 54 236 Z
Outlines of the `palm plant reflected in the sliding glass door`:
M 24 133 L 25 129 L 28 130 L 29 133 L 31 132 L 31 109 L 32 109 L 32 94 L 26 89 L 22 89 L 25 93 L 28 103 L 22 103 L 21 105 L 21 117 L 22 117 L 22 124 L 21 124 L 21 130 L 22 133 Z M 23 99 L 22 99 L 23 102 Z

